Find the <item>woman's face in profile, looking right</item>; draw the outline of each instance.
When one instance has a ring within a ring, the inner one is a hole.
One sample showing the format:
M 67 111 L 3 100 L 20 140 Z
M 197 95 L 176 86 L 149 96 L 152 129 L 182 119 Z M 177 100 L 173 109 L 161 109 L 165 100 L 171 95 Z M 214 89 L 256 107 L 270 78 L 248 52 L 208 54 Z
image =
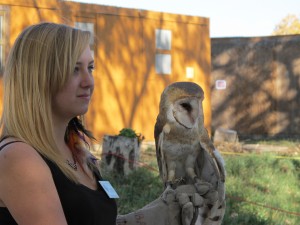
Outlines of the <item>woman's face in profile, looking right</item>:
M 65 86 L 54 96 L 53 115 L 62 121 L 87 112 L 94 90 L 94 59 L 87 46 L 76 62 L 74 72 Z

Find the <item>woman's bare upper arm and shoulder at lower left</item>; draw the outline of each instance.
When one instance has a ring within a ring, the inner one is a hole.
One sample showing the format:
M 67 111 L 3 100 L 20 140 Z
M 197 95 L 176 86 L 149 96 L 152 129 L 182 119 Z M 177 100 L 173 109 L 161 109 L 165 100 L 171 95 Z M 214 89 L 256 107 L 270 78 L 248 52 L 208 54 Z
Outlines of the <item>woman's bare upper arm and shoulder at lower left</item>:
M 49 167 L 25 143 L 0 151 L 0 206 L 19 225 L 67 225 Z

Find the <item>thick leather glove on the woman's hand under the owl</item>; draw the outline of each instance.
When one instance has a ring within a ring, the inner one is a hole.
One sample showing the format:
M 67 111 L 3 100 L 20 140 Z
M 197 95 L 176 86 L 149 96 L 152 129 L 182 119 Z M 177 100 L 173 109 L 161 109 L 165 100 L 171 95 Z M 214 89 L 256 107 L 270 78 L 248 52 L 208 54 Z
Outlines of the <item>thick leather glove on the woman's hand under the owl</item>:
M 193 185 L 181 185 L 175 190 L 166 189 L 162 196 L 145 207 L 118 216 L 117 225 L 191 225 L 198 217 L 203 198 Z

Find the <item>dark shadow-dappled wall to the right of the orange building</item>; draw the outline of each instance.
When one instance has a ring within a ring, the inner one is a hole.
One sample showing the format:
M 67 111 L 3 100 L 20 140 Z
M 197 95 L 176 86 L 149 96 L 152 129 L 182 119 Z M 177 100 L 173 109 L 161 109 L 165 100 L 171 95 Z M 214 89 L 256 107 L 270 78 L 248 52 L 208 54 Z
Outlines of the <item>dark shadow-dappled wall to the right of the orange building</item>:
M 240 137 L 300 133 L 300 36 L 212 39 L 212 129 Z M 217 89 L 216 81 L 226 81 Z

